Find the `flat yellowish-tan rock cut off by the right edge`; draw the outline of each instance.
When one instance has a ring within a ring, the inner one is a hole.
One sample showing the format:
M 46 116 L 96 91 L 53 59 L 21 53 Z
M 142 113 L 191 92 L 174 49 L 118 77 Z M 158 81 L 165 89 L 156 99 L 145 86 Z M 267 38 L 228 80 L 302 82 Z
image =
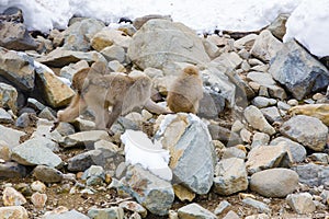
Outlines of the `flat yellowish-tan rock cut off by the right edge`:
M 290 114 L 306 115 L 320 119 L 326 126 L 329 126 L 329 104 L 306 104 L 290 108 Z

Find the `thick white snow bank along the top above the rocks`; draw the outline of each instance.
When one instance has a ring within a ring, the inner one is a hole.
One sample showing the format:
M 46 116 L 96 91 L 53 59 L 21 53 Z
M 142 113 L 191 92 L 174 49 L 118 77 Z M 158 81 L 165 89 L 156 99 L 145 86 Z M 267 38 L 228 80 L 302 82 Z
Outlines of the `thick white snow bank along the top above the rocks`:
M 328 56 L 328 0 L 0 0 L 0 13 L 19 7 L 29 30 L 65 28 L 72 15 L 100 19 L 106 23 L 126 16 L 171 15 L 198 33 L 258 31 L 280 13 L 292 13 L 285 41 L 298 39 L 316 56 Z

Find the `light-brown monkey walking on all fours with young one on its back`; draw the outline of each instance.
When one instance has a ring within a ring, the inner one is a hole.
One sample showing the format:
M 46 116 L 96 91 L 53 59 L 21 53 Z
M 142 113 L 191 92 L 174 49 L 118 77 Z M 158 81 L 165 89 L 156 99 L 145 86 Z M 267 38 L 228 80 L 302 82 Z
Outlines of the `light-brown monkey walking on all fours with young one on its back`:
M 72 122 L 87 107 L 94 112 L 97 129 L 110 129 L 118 116 L 135 107 L 144 106 L 156 114 L 170 113 L 150 100 L 152 83 L 146 74 L 133 72 L 127 76 L 106 71 L 105 64 L 98 61 L 90 69 L 83 69 L 73 76 L 72 88 L 76 95 L 67 108 L 58 111 L 56 124 Z

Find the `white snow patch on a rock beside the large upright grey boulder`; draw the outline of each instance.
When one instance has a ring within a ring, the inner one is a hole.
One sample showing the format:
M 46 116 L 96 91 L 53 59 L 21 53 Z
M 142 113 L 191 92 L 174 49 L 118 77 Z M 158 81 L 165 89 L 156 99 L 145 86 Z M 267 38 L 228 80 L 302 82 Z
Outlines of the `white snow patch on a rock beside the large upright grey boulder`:
M 126 164 L 140 164 L 155 175 L 171 181 L 170 154 L 159 141 L 154 143 L 143 131 L 129 129 L 121 136 L 121 140 L 125 145 Z

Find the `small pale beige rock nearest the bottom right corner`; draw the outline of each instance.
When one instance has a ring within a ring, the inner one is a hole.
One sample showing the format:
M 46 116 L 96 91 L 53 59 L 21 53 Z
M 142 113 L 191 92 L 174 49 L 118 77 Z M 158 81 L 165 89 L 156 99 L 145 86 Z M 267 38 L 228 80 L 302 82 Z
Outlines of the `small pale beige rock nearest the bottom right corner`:
M 309 193 L 291 194 L 286 197 L 287 204 L 297 214 L 313 214 L 316 206 Z

